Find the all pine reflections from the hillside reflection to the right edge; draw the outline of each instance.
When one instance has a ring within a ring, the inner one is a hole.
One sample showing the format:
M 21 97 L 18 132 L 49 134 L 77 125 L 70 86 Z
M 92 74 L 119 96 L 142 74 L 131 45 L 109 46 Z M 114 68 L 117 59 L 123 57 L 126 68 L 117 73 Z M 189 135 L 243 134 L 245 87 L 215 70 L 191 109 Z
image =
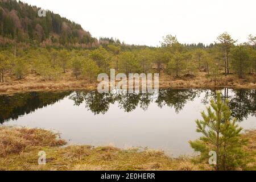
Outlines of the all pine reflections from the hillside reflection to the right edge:
M 114 102 L 118 102 L 118 107 L 126 112 L 135 110 L 138 105 L 143 110 L 147 110 L 153 101 L 161 108 L 166 105 L 174 108 L 176 113 L 179 113 L 187 102 L 193 101 L 201 93 L 204 93 L 204 98 L 201 100 L 204 105 L 209 103 L 211 97 L 216 97 L 216 90 L 210 89 L 162 89 L 159 90 L 159 97 L 156 100 L 151 98 L 152 94 L 146 93 L 118 95 L 100 94 L 98 92 L 74 92 L 70 98 L 75 101 L 75 105 L 85 102 L 85 106 L 94 114 L 106 113 L 109 110 L 110 104 L 114 104 Z M 255 96 L 255 90 L 233 90 L 227 88 L 222 90 L 223 100 L 228 99 L 230 101 L 229 107 L 232 110 L 232 116 L 236 117 L 239 121 L 243 121 L 249 115 L 255 116 Z

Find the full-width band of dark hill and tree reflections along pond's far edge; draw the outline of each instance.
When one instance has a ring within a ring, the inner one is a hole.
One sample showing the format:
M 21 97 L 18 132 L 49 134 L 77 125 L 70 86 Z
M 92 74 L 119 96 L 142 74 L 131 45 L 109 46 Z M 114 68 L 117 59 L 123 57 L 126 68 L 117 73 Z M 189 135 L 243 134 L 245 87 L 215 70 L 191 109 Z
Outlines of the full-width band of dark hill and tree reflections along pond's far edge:
M 216 90 L 196 89 L 162 89 L 159 97 L 154 99 L 154 94 L 127 93 L 127 94 L 100 94 L 98 92 L 30 92 L 20 93 L 12 96 L 0 96 L 0 123 L 8 119 L 17 119 L 20 115 L 28 114 L 38 108 L 54 104 L 66 96 L 74 101 L 74 105 L 84 104 L 94 114 L 105 114 L 110 104 L 118 103 L 118 107 L 126 112 L 135 110 L 138 106 L 147 110 L 148 106 L 155 102 L 159 107 L 164 105 L 173 107 L 176 113 L 183 109 L 185 104 L 193 101 L 204 93 L 201 100 L 208 104 L 210 97 L 216 96 Z M 256 116 L 256 93 L 255 90 L 233 90 L 223 89 L 223 99 L 228 99 L 232 116 L 243 121 L 249 115 Z

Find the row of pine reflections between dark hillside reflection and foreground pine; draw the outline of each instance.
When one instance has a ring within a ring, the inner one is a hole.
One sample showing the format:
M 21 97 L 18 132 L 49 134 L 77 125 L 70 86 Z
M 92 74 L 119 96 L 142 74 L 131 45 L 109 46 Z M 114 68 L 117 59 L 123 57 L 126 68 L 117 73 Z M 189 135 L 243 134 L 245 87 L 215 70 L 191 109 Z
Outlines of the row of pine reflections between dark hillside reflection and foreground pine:
M 155 101 L 159 107 L 167 105 L 174 107 L 178 113 L 183 109 L 188 101 L 193 101 L 196 96 L 199 96 L 200 90 L 160 90 L 159 97 Z M 122 93 L 122 94 L 100 94 L 98 92 L 74 92 L 71 97 L 75 101 L 75 105 L 80 105 L 85 101 L 88 110 L 94 114 L 104 114 L 109 109 L 109 105 L 118 102 L 118 107 L 126 112 L 133 111 L 138 105 L 143 110 L 147 110 L 148 106 L 154 99 L 151 98 L 153 94 L 148 93 Z

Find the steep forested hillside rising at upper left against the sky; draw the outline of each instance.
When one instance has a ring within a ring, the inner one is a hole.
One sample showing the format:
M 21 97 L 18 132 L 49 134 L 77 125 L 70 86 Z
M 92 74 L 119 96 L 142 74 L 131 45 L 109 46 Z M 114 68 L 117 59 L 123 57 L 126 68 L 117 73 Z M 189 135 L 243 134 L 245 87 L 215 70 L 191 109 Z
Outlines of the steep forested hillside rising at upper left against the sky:
M 80 24 L 47 11 L 39 17 L 39 7 L 14 0 L 0 0 L 0 43 L 33 43 L 49 46 L 94 47 L 92 38 Z

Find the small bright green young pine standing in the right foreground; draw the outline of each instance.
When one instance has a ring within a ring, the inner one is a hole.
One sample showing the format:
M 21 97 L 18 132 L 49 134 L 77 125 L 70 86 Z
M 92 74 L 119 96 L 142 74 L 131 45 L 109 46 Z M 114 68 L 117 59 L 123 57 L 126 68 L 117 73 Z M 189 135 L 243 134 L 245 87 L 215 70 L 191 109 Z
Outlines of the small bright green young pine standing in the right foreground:
M 207 114 L 201 113 L 203 120 L 196 120 L 197 132 L 203 137 L 189 141 L 195 151 L 201 152 L 201 162 L 208 161 L 210 151 L 216 152 L 217 171 L 245 169 L 249 160 L 249 155 L 243 150 L 247 140 L 241 138 L 242 128 L 235 118 L 230 118 L 230 114 L 228 101 L 222 102 L 221 93 L 217 92 L 217 99 L 210 101 Z

